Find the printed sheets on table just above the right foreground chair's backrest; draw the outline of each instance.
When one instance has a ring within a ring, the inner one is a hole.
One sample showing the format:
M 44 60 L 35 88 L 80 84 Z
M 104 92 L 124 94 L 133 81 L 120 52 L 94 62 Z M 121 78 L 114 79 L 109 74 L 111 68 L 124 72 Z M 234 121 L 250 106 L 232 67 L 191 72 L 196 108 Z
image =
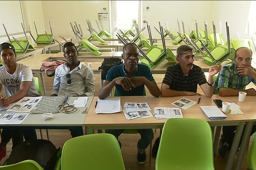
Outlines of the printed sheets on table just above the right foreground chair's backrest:
M 157 119 L 183 118 L 180 108 L 154 108 Z

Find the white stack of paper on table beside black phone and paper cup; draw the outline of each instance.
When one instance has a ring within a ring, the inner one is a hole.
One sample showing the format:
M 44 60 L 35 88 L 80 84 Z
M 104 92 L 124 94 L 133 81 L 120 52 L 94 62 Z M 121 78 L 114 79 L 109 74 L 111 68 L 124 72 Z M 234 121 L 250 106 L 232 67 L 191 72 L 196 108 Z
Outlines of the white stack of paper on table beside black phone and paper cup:
M 217 106 L 200 106 L 209 119 L 226 119 L 227 116 Z

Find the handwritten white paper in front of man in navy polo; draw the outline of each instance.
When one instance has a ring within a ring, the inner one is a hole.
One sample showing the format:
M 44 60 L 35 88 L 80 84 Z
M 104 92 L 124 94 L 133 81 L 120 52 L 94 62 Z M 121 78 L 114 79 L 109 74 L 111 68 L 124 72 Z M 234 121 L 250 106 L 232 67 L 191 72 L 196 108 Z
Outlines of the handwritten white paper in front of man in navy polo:
M 98 99 L 96 113 L 118 113 L 122 111 L 120 97 Z

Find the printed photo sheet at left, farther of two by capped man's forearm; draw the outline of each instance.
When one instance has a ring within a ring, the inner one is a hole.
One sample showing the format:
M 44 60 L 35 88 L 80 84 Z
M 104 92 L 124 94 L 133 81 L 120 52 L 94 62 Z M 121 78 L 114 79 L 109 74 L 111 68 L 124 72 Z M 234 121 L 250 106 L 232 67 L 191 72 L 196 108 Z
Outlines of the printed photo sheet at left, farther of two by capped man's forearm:
M 15 113 L 29 113 L 33 108 L 40 102 L 42 96 L 40 97 L 23 97 L 17 101 L 11 108 L 7 109 L 6 112 Z

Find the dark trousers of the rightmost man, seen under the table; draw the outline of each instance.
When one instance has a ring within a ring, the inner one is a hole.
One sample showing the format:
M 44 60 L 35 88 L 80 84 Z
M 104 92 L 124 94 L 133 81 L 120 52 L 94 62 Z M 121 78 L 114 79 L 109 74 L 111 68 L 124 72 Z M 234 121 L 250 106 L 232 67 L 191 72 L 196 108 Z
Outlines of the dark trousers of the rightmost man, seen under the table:
M 255 132 L 255 130 L 256 130 L 256 125 L 253 125 L 250 136 Z M 231 147 L 232 143 L 233 143 L 235 133 L 236 133 L 236 126 L 223 126 L 222 127 L 221 142 L 223 142 L 223 143 L 227 142 L 229 147 Z M 244 134 L 244 130 L 243 130 L 243 133 L 242 133 L 241 137 L 243 137 L 243 134 Z M 240 144 L 241 144 L 241 140 L 239 142 L 239 147 L 240 147 Z

